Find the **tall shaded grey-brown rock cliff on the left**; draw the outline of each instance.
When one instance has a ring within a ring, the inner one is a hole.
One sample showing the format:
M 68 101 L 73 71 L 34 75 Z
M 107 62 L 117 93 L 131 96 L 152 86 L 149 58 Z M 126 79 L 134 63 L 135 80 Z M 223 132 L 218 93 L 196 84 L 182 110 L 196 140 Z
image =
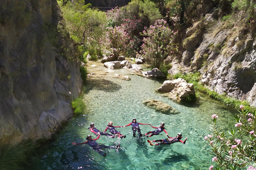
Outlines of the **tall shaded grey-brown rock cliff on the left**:
M 82 80 L 60 19 L 55 0 L 0 2 L 0 143 L 50 138 L 73 115 Z

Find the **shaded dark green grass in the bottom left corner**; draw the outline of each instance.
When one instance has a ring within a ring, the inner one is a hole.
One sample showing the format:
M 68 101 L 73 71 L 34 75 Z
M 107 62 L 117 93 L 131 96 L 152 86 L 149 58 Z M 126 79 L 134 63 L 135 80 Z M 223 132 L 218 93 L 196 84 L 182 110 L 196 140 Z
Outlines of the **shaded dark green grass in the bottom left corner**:
M 22 142 L 15 146 L 0 146 L 0 169 L 23 169 L 23 165 L 35 148 L 36 146 L 31 141 Z

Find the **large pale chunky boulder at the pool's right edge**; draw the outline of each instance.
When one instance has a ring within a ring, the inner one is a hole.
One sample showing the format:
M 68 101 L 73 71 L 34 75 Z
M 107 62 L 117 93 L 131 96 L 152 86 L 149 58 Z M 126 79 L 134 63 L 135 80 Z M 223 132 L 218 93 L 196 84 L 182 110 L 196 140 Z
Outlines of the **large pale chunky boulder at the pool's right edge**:
M 189 95 L 195 96 L 196 92 L 193 83 L 187 83 L 184 79 L 166 80 L 157 91 L 169 92 L 167 95 L 174 100 L 185 100 Z

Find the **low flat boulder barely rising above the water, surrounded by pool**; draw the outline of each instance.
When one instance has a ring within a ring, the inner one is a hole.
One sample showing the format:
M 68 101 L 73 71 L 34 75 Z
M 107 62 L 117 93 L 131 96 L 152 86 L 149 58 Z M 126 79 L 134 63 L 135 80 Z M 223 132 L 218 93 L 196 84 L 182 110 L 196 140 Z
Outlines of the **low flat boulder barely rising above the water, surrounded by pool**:
M 168 104 L 163 103 L 162 101 L 159 100 L 146 100 L 143 101 L 143 104 L 148 106 L 149 108 L 155 109 L 157 112 L 161 112 L 164 114 L 173 114 L 175 113 L 175 110 Z

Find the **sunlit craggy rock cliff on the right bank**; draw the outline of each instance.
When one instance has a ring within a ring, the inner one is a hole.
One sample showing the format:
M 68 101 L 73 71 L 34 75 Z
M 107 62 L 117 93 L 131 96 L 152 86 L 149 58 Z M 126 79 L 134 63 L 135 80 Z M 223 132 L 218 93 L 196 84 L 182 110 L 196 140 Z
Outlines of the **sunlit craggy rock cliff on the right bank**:
M 181 32 L 182 56 L 169 58 L 173 65 L 169 72 L 199 71 L 211 90 L 256 106 L 255 27 L 218 18 L 213 8 Z

